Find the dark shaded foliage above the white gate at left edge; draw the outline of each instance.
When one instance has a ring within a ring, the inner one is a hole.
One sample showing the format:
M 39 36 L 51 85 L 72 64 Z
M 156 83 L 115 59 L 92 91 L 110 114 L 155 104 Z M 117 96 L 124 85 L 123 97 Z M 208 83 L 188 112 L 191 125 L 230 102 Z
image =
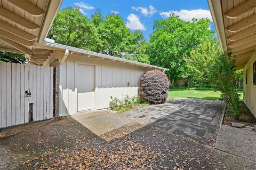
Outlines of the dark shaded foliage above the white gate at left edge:
M 0 62 L 15 62 L 15 63 L 25 63 L 26 58 L 24 54 L 10 53 L 0 51 Z

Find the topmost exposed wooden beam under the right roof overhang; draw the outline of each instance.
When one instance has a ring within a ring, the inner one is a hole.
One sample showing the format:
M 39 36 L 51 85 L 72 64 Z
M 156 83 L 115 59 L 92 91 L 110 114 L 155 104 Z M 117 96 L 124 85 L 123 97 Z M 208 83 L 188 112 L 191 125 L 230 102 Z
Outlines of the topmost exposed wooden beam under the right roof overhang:
M 256 7 L 256 0 L 247 0 L 242 4 L 237 5 L 233 9 L 227 11 L 225 15 L 228 18 L 234 19 L 245 12 L 248 12 Z

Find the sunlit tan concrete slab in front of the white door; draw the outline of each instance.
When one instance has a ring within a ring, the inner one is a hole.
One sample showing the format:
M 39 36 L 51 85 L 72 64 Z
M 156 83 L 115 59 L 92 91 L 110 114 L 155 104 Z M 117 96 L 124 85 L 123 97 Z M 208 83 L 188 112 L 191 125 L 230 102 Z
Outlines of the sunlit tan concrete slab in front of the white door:
M 98 136 L 132 123 L 128 118 L 103 110 L 85 111 L 71 117 Z

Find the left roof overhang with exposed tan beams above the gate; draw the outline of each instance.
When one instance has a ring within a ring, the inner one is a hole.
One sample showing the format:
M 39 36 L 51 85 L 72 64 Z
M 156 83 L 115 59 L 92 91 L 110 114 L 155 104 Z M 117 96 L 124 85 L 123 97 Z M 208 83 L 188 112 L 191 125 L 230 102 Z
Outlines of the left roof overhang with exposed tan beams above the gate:
M 0 0 L 0 50 L 26 54 L 40 64 L 51 51 L 43 53 L 43 43 L 62 0 Z

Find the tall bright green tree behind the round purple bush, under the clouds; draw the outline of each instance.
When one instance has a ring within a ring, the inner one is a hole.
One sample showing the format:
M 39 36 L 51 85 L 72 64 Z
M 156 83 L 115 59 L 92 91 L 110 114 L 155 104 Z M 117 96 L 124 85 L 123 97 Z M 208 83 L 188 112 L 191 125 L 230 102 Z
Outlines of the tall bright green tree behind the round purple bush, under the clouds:
M 175 79 L 188 76 L 186 58 L 201 41 L 213 36 L 209 27 L 209 19 L 185 22 L 175 15 L 155 21 L 150 35 L 150 62 L 170 69 L 166 74 L 171 85 Z

